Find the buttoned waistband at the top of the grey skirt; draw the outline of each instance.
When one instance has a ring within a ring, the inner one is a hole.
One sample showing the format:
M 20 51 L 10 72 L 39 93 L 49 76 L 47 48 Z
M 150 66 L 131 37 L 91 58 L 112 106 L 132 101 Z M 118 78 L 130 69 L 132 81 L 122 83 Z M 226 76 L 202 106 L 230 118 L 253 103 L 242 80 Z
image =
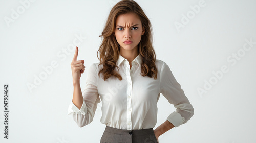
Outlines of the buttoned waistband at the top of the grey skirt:
M 109 126 L 106 126 L 105 131 L 110 133 L 115 133 L 115 134 L 123 134 L 127 132 L 133 132 L 135 134 L 146 134 L 148 132 L 152 132 L 152 131 L 154 132 L 153 128 L 140 129 L 140 130 L 123 130 L 123 129 L 117 129 Z

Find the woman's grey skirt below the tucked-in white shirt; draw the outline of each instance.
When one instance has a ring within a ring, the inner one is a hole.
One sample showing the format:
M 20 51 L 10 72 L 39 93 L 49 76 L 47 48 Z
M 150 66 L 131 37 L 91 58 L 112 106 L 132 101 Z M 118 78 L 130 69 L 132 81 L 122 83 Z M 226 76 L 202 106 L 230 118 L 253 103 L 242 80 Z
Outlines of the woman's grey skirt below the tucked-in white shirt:
M 157 143 L 153 128 L 122 130 L 106 126 L 100 143 Z

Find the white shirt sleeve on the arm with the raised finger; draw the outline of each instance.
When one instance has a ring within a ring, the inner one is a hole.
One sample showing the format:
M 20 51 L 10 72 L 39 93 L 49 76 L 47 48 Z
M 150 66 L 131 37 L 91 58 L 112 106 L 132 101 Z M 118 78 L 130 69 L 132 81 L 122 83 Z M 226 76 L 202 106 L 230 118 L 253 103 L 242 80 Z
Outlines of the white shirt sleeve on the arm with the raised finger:
M 68 115 L 73 115 L 74 121 L 79 127 L 86 126 L 93 121 L 97 104 L 100 102 L 97 84 L 98 73 L 95 63 L 93 63 L 88 70 L 81 108 L 76 107 L 72 101 L 68 108 Z

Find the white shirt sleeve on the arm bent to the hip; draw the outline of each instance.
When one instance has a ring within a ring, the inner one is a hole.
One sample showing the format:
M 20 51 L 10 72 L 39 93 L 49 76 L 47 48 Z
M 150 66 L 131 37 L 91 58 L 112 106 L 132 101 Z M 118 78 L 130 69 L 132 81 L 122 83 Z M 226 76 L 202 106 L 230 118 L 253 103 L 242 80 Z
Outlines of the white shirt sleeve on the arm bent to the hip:
M 167 117 L 167 120 L 175 127 L 186 123 L 194 115 L 193 106 L 165 62 L 163 62 L 160 74 L 160 93 L 176 108 L 176 111 Z

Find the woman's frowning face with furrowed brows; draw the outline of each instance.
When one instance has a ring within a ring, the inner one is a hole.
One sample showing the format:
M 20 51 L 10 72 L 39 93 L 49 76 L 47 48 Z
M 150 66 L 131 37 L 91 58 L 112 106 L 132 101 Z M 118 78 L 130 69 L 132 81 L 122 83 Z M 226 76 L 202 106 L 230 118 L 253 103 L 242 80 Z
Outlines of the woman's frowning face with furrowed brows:
M 127 13 L 119 15 L 116 19 L 116 28 L 114 36 L 120 45 L 120 51 L 123 50 L 137 50 L 141 36 L 145 33 L 141 21 L 134 13 Z M 125 43 L 130 40 L 132 42 Z

